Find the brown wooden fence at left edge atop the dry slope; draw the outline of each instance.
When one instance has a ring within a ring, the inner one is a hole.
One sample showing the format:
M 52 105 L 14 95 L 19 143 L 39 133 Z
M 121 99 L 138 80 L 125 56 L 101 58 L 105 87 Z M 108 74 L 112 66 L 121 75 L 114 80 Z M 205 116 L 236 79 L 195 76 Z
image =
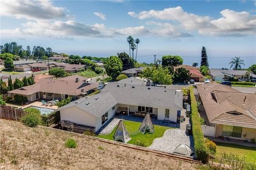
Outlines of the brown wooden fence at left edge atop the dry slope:
M 19 121 L 21 116 L 25 114 L 25 112 L 12 106 L 1 105 L 0 107 L 0 117 L 8 120 Z

